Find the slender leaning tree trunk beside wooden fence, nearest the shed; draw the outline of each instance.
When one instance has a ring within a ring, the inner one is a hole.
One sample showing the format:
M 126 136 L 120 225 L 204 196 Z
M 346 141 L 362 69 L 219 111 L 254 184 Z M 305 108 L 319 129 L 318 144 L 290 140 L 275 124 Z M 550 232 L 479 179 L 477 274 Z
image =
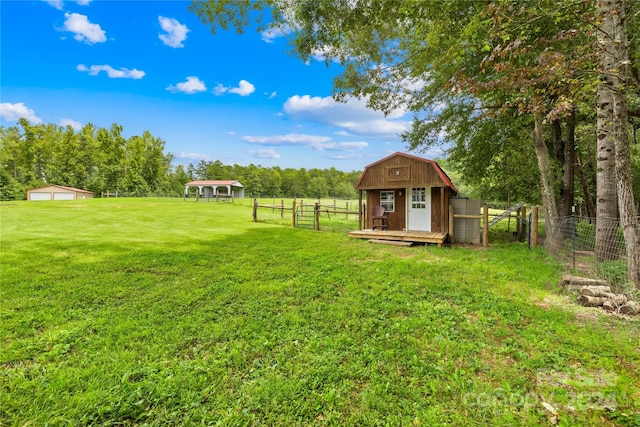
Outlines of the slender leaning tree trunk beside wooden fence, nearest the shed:
M 562 245 L 562 238 L 559 233 L 559 214 L 556 192 L 553 186 L 553 168 L 551 167 L 551 158 L 547 145 L 544 142 L 542 114 L 539 112 L 534 113 L 533 117 L 533 147 L 538 160 L 538 169 L 540 170 L 540 187 L 542 189 L 542 205 L 545 213 L 547 245 L 551 248 L 559 248 Z

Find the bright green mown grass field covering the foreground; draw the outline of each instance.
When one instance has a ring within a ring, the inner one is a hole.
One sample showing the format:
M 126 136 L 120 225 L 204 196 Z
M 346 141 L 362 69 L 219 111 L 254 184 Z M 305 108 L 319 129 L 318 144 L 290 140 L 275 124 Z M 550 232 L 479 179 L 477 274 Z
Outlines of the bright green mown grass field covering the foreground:
M 640 425 L 640 322 L 560 295 L 543 248 L 372 245 L 241 202 L 0 215 L 0 425 Z

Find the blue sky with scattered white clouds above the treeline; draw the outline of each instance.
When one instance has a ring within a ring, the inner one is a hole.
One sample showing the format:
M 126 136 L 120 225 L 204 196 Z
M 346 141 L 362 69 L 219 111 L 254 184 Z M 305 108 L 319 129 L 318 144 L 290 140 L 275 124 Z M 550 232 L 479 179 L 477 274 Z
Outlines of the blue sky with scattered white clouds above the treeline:
M 1 0 L 1 124 L 148 130 L 174 165 L 351 171 L 406 150 L 409 114 L 332 100 L 337 64 L 289 56 L 284 37 L 213 35 L 188 5 Z

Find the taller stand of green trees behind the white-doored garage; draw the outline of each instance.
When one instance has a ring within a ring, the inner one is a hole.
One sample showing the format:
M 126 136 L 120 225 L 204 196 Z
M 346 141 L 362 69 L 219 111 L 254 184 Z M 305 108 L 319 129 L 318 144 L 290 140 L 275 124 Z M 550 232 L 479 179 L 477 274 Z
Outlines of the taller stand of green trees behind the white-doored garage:
M 100 194 L 120 191 L 147 194 L 163 188 L 170 174 L 164 141 L 145 131 L 122 137 L 122 126 L 75 131 L 53 124 L 2 128 L 0 167 L 22 187 L 46 183 L 83 188 Z

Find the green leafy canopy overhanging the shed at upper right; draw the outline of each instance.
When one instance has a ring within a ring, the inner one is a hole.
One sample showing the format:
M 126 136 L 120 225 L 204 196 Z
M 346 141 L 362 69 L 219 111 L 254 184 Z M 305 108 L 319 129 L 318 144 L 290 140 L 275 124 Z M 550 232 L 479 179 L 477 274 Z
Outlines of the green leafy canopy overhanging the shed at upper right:
M 636 123 L 640 6 L 626 4 Z M 568 215 L 576 201 L 595 201 L 596 158 L 589 153 L 599 82 L 597 2 L 217 0 L 194 1 L 190 9 L 213 33 L 241 33 L 255 22 L 258 31 L 281 30 L 291 53 L 305 61 L 322 52 L 327 65 L 339 62 L 338 100 L 356 96 L 385 113 L 413 112 L 403 135 L 408 146 L 446 147 L 478 197 L 537 202 L 545 171 L 559 206 L 554 215 Z M 546 119 L 548 169 L 532 149 L 534 113 Z M 578 134 L 579 127 L 591 133 Z M 575 182 L 574 152 L 584 154 Z

